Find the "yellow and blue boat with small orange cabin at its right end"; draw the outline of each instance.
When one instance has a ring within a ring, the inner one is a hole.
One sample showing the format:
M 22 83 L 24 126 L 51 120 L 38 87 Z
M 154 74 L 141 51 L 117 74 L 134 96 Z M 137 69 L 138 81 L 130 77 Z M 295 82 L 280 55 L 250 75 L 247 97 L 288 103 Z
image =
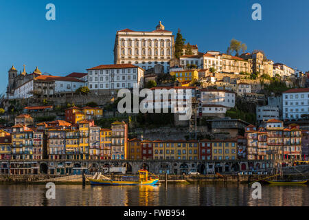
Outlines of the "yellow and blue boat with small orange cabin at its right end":
M 122 176 L 120 179 L 109 179 L 105 177 L 105 179 L 100 179 L 99 177 L 88 178 L 91 185 L 109 185 L 109 186 L 120 186 L 120 185 L 156 185 L 158 184 L 159 177 L 149 173 L 148 170 L 139 170 L 139 177 L 135 179 L 135 177 L 130 176 Z M 103 176 L 104 177 L 104 176 Z

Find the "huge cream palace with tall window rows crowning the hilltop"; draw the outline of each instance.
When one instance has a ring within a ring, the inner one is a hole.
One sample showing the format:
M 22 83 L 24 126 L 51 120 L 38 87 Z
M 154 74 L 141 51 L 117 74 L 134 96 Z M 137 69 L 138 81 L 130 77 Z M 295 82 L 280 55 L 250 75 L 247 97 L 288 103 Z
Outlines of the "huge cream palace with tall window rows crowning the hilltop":
M 130 29 L 117 31 L 114 47 L 114 64 L 133 64 L 150 69 L 157 64 L 169 72 L 174 57 L 174 35 L 161 24 L 156 30 L 138 32 Z

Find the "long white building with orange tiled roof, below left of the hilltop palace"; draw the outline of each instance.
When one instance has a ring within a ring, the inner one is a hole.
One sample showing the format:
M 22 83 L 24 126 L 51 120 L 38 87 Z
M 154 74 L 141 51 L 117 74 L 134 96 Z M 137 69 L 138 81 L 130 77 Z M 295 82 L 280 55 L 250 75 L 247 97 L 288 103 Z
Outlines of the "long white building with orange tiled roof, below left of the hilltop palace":
M 87 69 L 90 90 L 144 87 L 144 69 L 131 64 L 100 65 Z

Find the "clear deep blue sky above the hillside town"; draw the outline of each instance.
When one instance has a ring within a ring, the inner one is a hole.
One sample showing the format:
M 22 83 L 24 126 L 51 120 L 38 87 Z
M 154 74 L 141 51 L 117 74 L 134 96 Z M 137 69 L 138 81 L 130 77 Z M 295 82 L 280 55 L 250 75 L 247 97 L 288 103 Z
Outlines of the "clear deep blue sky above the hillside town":
M 48 3 L 56 21 L 45 18 Z M 251 18 L 253 3 L 262 6 L 261 21 Z M 0 93 L 12 65 L 58 76 L 86 72 L 113 63 L 117 30 L 152 31 L 159 21 L 200 52 L 226 52 L 237 39 L 247 52 L 263 50 L 275 63 L 309 70 L 308 0 L 0 0 Z

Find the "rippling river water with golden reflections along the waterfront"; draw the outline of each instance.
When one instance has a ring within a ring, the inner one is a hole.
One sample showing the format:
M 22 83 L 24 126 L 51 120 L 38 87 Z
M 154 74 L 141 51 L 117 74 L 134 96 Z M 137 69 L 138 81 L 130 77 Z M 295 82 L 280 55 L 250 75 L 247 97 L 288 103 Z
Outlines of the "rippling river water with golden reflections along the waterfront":
M 46 199 L 44 185 L 0 185 L 0 206 L 309 206 L 309 186 L 262 185 L 253 199 L 247 184 L 165 186 L 56 185 Z

